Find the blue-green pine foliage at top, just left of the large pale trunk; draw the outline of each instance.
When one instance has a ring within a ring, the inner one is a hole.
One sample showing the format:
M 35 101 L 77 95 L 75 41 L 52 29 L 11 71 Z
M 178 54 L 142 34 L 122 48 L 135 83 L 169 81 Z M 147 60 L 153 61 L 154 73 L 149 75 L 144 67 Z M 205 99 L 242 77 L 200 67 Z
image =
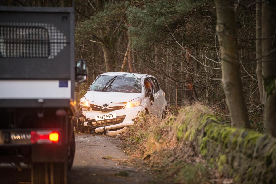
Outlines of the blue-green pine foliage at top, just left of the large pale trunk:
M 127 10 L 128 29 L 132 47 L 137 50 L 160 44 L 169 35 L 167 26 L 175 30 L 182 16 L 203 4 L 203 0 L 144 0 L 141 8 L 131 6 Z

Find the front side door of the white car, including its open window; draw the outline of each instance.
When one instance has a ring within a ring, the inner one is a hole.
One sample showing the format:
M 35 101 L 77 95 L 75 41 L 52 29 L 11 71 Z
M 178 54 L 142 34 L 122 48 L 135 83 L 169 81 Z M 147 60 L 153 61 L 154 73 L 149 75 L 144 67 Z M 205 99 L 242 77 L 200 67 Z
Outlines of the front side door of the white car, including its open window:
M 158 103 L 158 98 L 156 97 L 156 89 L 155 89 L 155 86 L 153 85 L 153 82 L 152 80 L 147 77 L 144 79 L 144 87 L 145 87 L 145 90 L 146 90 L 146 103 L 147 103 L 147 108 L 149 109 L 149 111 L 156 115 L 156 116 L 159 116 L 158 114 L 158 106 L 159 106 L 159 103 Z M 154 97 L 154 101 L 152 101 L 149 97 L 149 94 L 152 93 L 153 94 L 153 97 Z

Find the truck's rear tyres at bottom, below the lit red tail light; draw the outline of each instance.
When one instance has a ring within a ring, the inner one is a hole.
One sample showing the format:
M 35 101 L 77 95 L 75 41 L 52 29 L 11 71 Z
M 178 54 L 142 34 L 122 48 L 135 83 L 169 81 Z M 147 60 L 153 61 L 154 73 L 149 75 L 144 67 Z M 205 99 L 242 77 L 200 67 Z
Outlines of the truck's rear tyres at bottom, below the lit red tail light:
M 64 162 L 33 162 L 32 184 L 66 184 L 66 165 Z

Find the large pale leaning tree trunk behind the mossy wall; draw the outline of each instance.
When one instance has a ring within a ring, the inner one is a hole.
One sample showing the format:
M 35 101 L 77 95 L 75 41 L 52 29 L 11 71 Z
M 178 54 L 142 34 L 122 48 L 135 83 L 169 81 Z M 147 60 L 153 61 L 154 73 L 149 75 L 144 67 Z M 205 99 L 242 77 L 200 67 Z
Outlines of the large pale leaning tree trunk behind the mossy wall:
M 231 125 L 250 128 L 241 81 L 237 28 L 232 0 L 215 0 L 218 39 L 222 65 L 222 87 L 230 111 Z

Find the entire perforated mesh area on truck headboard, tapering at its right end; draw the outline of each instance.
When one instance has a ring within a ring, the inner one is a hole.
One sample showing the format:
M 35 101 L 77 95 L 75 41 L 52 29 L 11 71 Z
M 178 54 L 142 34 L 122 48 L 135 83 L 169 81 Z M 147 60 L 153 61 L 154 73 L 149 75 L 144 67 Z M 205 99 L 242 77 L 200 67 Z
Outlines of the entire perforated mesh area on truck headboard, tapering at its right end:
M 53 24 L 0 22 L 0 58 L 53 59 L 67 44 Z

